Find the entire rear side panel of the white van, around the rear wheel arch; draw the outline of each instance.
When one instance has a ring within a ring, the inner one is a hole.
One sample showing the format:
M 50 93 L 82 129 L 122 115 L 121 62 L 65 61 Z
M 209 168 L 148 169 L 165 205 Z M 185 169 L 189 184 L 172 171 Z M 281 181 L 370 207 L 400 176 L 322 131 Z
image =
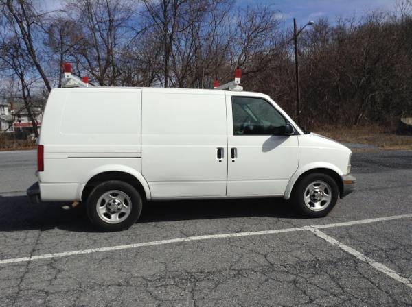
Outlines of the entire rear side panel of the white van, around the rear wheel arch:
M 79 200 L 87 173 L 107 164 L 141 171 L 141 89 L 58 88 L 47 101 L 39 143 L 41 199 Z

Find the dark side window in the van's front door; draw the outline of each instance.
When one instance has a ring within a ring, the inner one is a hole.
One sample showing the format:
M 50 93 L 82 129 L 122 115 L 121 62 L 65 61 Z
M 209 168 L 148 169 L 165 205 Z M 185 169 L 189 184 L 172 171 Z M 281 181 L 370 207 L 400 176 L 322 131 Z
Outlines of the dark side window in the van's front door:
M 286 119 L 268 101 L 255 97 L 232 97 L 233 135 L 284 135 Z

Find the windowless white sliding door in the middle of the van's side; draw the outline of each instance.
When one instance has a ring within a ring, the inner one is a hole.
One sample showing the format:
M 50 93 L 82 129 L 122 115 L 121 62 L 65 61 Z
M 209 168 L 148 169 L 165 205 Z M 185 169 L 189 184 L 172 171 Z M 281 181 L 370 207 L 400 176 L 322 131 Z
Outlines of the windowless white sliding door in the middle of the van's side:
M 143 93 L 142 174 L 152 198 L 226 195 L 227 126 L 222 91 Z M 219 162 L 218 147 L 224 149 Z

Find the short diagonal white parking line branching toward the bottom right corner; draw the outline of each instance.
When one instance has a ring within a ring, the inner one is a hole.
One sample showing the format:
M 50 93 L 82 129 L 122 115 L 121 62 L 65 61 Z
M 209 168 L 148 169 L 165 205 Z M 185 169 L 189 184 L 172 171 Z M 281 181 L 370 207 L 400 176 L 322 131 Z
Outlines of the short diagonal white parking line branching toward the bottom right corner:
M 355 256 L 359 260 L 361 260 L 363 262 L 366 262 L 371 267 L 374 267 L 378 271 L 380 271 L 382 273 L 385 273 L 386 275 L 393 278 L 394 280 L 397 280 L 398 282 L 402 282 L 402 284 L 405 284 L 406 286 L 409 286 L 409 288 L 412 288 L 412 282 L 410 280 L 408 280 L 407 278 L 402 277 L 401 275 L 396 273 L 396 271 L 393 271 L 393 269 L 389 269 L 389 267 L 387 267 L 386 265 L 382 265 L 382 263 L 376 262 L 374 259 L 369 258 L 368 256 L 362 254 L 361 252 L 357 251 L 356 249 L 353 249 L 352 247 L 349 247 L 349 246 L 337 241 L 335 238 L 332 238 L 332 236 L 328 236 L 328 234 L 325 234 L 324 232 L 321 232 L 321 230 L 319 230 L 319 228 L 314 228 L 314 227 L 307 226 L 305 229 L 313 232 L 314 234 L 319 236 L 319 238 L 323 238 L 323 240 L 325 240 L 326 242 L 343 249 L 344 251 L 351 254 L 352 256 Z

